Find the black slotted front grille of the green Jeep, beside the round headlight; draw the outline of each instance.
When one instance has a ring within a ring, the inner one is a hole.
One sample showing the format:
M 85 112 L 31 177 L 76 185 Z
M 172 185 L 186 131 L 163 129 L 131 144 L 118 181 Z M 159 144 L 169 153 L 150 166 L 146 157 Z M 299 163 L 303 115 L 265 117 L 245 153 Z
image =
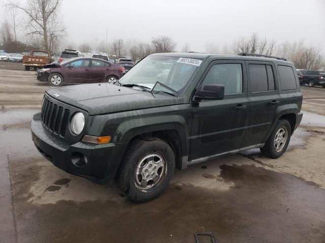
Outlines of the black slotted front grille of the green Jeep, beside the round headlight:
M 70 110 L 55 104 L 44 97 L 41 120 L 43 126 L 50 132 L 61 137 L 66 136 Z

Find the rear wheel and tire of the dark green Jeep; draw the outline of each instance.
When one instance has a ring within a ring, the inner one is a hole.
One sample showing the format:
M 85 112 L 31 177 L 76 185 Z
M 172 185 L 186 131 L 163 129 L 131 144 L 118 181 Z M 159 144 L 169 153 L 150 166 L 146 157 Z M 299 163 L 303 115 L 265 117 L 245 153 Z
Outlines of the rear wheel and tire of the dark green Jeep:
M 284 132 L 284 135 L 282 132 Z M 270 158 L 280 157 L 288 147 L 290 138 L 291 126 L 289 121 L 285 119 L 279 120 L 264 147 L 261 148 L 262 154 Z

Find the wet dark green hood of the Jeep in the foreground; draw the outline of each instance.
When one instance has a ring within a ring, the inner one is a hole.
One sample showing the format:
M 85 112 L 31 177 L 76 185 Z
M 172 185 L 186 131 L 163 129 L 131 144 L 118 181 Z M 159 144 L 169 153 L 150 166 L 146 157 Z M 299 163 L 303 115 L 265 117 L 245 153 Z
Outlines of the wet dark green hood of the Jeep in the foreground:
M 106 83 L 67 86 L 46 92 L 54 99 L 86 110 L 89 115 L 185 103 L 183 98 L 155 98 L 148 92 Z

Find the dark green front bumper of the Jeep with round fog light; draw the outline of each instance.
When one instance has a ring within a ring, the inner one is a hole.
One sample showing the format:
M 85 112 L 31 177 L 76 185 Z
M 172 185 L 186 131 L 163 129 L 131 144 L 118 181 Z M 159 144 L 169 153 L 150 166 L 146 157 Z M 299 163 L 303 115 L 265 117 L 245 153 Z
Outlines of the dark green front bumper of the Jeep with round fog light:
M 115 178 L 126 143 L 68 144 L 48 133 L 42 126 L 41 113 L 31 123 L 31 137 L 39 152 L 54 166 L 71 174 L 108 183 Z M 77 160 L 83 163 L 77 163 Z M 86 162 L 85 162 L 86 161 Z

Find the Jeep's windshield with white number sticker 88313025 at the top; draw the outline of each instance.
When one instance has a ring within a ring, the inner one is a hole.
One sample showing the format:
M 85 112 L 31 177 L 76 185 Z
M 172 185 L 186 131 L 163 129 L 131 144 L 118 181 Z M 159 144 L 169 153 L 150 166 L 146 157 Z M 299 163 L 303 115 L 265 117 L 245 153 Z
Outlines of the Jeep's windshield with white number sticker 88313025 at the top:
M 141 85 L 152 89 L 159 82 L 180 93 L 202 60 L 179 57 L 148 56 L 130 69 L 120 80 L 121 85 Z M 156 86 L 155 91 L 163 86 Z M 168 91 L 170 92 L 170 91 Z

